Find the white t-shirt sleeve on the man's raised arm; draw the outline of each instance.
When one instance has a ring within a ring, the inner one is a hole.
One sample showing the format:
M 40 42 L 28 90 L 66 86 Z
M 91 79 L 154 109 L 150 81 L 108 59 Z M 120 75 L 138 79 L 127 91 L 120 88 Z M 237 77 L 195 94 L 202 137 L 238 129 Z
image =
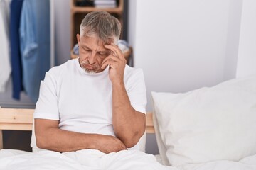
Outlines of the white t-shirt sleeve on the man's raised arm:
M 135 69 L 127 82 L 127 94 L 132 107 L 146 113 L 146 86 L 142 69 Z

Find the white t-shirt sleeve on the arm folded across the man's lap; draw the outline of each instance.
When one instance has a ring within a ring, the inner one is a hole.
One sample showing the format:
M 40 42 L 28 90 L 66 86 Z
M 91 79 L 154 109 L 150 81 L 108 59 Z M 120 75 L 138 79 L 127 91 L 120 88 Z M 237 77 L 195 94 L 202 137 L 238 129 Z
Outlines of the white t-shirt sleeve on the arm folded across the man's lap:
M 39 98 L 36 103 L 34 118 L 59 120 L 57 83 L 53 74 L 46 73 L 46 77 L 41 81 Z

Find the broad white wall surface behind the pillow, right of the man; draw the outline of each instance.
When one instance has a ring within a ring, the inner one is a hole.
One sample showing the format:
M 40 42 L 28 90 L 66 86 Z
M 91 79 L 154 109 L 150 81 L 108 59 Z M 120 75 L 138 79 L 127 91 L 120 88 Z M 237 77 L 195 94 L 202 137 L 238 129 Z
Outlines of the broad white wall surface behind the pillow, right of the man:
M 151 91 L 183 92 L 213 86 L 236 74 L 242 0 L 129 1 L 134 67 Z M 131 11 L 132 12 L 132 11 Z M 146 151 L 157 153 L 154 137 Z

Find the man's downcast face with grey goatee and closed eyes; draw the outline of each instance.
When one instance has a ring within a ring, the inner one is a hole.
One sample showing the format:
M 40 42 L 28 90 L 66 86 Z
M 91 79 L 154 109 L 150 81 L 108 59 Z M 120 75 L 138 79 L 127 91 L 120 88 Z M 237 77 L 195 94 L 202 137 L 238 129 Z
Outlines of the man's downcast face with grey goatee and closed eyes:
M 111 51 L 104 47 L 104 42 L 96 36 L 77 35 L 79 45 L 79 63 L 87 73 L 102 72 L 102 61 Z

